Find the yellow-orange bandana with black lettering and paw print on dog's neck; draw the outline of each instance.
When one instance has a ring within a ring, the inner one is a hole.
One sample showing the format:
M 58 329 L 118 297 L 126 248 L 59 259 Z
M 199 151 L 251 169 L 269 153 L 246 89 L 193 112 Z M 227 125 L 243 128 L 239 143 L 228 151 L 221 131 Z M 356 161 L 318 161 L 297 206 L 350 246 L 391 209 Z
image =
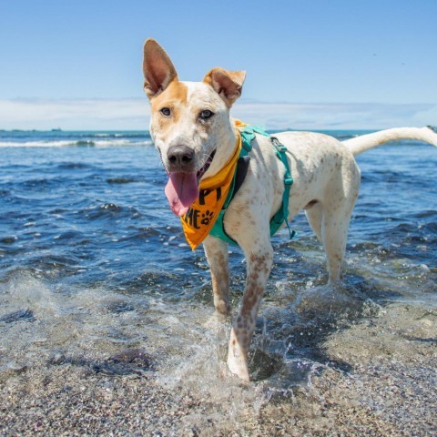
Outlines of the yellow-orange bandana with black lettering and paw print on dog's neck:
M 246 125 L 235 120 L 235 126 Z M 241 150 L 241 135 L 238 128 L 236 133 L 237 144 L 234 153 L 219 173 L 200 181 L 198 198 L 191 204 L 187 214 L 180 218 L 185 238 L 193 250 L 208 237 L 228 196 Z

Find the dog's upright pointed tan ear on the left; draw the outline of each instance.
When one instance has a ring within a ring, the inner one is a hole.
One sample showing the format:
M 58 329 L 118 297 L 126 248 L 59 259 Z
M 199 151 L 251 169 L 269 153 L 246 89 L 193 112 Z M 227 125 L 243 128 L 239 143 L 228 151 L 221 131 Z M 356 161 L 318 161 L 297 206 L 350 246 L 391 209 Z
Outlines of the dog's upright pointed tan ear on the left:
M 148 98 L 158 96 L 178 77 L 168 54 L 151 38 L 144 43 L 143 73 L 144 91 Z

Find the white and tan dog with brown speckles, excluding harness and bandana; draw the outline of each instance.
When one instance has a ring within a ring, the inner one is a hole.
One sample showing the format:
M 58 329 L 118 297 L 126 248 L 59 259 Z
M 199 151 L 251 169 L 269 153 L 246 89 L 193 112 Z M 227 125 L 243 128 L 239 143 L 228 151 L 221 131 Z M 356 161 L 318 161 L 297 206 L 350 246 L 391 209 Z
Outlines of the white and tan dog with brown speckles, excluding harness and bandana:
M 229 109 L 239 98 L 245 72 L 213 68 L 202 82 L 181 82 L 167 53 L 153 39 L 144 46 L 144 89 L 150 99 L 150 134 L 169 176 L 166 194 L 173 212 L 184 215 L 198 197 L 198 181 L 219 172 L 236 144 Z M 289 217 L 300 209 L 323 244 L 330 283 L 340 279 L 352 208 L 360 188 L 354 155 L 402 138 L 437 146 L 428 127 L 394 128 L 340 142 L 309 132 L 275 134 L 288 148 L 294 184 Z M 269 220 L 280 208 L 284 165 L 268 137 L 252 142 L 248 174 L 226 212 L 226 232 L 243 249 L 247 279 L 239 315 L 229 339 L 228 365 L 249 381 L 248 351 L 257 312 L 273 262 Z M 228 244 L 208 236 L 204 241 L 212 277 L 214 305 L 229 313 Z

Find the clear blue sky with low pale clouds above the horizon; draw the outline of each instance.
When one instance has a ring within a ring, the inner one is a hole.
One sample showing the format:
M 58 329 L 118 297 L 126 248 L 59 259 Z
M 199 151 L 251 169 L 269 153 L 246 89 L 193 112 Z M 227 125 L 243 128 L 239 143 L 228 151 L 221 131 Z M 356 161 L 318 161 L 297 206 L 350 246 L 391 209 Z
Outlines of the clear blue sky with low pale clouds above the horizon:
M 183 80 L 248 71 L 267 127 L 437 124 L 436 0 L 0 0 L 0 128 L 144 129 L 142 45 Z

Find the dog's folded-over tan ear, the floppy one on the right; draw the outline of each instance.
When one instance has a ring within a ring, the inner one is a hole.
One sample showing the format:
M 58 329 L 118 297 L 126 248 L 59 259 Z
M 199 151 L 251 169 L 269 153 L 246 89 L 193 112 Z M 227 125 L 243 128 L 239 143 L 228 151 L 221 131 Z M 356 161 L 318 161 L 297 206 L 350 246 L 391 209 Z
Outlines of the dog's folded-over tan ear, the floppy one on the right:
M 203 81 L 212 86 L 228 107 L 231 107 L 241 96 L 245 77 L 245 71 L 228 71 L 216 67 L 208 71 Z

